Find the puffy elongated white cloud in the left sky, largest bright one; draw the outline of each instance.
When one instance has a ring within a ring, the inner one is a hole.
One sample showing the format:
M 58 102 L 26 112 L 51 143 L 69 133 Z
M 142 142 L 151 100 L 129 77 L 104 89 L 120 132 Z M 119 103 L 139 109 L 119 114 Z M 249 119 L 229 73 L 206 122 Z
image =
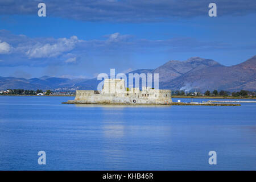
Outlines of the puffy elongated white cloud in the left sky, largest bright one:
M 28 49 L 26 55 L 30 58 L 56 57 L 61 55 L 63 52 L 71 51 L 74 49 L 77 42 L 79 42 L 77 36 L 72 36 L 69 39 L 57 39 L 57 43 L 55 44 L 37 43 Z

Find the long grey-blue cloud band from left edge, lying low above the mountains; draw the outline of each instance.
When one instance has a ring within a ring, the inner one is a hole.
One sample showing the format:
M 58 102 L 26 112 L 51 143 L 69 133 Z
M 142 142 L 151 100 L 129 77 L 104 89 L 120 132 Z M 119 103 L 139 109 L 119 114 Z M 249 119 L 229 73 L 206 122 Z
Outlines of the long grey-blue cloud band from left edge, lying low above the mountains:
M 0 30 L 0 53 L 2 66 L 28 65 L 46 67 L 48 65 L 79 64 L 88 61 L 92 55 L 98 63 L 103 63 L 102 57 L 108 55 L 162 53 L 162 52 L 197 52 L 214 51 L 229 48 L 222 42 L 205 42 L 193 38 L 181 37 L 171 39 L 139 39 L 133 35 L 122 35 L 115 32 L 103 35 L 99 39 L 79 39 L 73 35 L 70 38 L 30 38 L 26 35 L 11 34 Z M 112 60 L 109 60 L 111 63 Z M 119 60 L 119 63 L 126 60 Z M 88 61 L 88 65 L 92 64 Z

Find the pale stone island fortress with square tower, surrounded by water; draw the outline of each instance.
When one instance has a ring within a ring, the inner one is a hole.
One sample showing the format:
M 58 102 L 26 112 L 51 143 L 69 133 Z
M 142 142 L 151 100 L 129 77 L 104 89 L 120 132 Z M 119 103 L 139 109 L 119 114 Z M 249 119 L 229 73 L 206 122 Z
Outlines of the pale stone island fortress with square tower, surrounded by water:
M 67 104 L 170 104 L 171 90 L 150 87 L 126 88 L 123 79 L 105 79 L 101 91 L 76 90 L 76 98 Z

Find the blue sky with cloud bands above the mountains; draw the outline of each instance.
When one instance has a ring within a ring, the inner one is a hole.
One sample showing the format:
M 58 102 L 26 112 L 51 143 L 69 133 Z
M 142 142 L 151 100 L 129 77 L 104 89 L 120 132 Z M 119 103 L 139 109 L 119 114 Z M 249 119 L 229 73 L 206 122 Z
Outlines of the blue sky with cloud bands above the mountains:
M 236 65 L 256 55 L 255 32 L 255 0 L 0 0 L 0 76 L 92 78 L 195 56 Z

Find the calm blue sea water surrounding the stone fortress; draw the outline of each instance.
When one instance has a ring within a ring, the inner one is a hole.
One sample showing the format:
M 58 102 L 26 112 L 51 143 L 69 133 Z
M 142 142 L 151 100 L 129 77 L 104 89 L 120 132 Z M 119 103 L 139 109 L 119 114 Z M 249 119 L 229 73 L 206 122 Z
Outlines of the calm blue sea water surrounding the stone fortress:
M 256 103 L 61 104 L 72 99 L 0 96 L 0 169 L 256 169 Z M 46 165 L 38 164 L 41 150 L 46 151 Z M 208 163 L 212 150 L 217 165 Z

